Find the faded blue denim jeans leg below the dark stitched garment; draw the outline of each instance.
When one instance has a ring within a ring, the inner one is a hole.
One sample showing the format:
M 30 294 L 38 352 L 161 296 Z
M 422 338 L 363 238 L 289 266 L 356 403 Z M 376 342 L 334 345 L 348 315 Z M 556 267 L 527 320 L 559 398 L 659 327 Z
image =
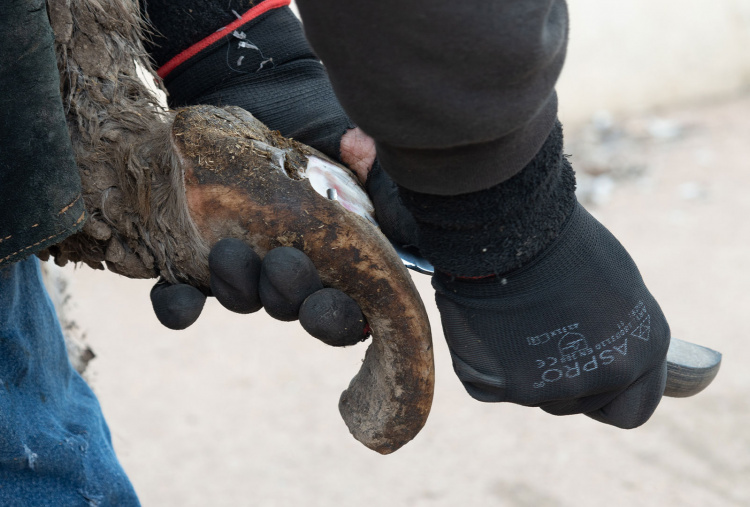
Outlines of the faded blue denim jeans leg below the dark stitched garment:
M 35 257 L 0 270 L 0 505 L 140 505 Z

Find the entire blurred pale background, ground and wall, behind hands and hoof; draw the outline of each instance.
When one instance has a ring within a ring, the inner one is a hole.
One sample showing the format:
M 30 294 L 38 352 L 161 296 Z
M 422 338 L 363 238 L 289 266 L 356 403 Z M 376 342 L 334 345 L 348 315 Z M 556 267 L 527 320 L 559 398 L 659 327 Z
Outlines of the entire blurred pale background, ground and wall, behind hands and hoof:
M 579 198 L 625 245 L 673 335 L 720 350 L 690 399 L 632 431 L 481 404 L 455 378 L 429 278 L 437 385 L 418 437 L 357 443 L 337 402 L 366 344 L 209 301 L 160 326 L 150 281 L 52 269 L 144 506 L 750 505 L 750 1 L 569 0 L 559 83 Z

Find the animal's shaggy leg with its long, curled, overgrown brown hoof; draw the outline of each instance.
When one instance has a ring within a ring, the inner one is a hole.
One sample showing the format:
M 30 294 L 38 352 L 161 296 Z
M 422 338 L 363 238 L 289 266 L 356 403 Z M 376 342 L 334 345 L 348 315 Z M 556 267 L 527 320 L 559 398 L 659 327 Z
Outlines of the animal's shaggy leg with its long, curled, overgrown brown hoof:
M 48 5 L 88 220 L 40 256 L 207 287 L 208 252 L 220 238 L 242 239 L 261 256 L 297 247 L 372 328 L 339 402 L 349 430 L 384 454 L 414 438 L 434 383 L 424 306 L 379 230 L 305 178 L 310 157 L 324 157 L 241 109 L 161 107 L 141 78 L 153 72 L 137 2 Z

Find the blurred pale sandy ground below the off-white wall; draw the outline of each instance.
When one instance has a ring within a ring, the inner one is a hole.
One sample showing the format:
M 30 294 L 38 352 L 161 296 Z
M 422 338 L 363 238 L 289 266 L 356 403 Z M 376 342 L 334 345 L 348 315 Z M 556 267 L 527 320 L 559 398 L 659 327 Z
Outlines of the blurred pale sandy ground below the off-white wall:
M 429 279 L 437 386 L 420 435 L 391 456 L 353 440 L 337 400 L 364 346 L 210 301 L 162 328 L 150 282 L 75 271 L 89 378 L 145 506 L 750 505 L 750 97 L 665 113 L 678 139 L 593 208 L 630 251 L 674 336 L 724 353 L 715 383 L 664 399 L 644 427 L 481 404 L 453 375 Z M 575 165 L 575 157 L 574 157 Z

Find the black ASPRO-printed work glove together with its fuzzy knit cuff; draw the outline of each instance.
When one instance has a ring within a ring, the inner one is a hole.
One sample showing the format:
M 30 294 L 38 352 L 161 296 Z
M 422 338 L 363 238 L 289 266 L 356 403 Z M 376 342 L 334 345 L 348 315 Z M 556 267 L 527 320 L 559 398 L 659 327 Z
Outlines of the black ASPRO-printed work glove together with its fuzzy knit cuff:
M 623 246 L 575 199 L 556 125 L 496 187 L 402 189 L 459 379 L 485 402 L 633 428 L 666 383 L 669 326 Z

